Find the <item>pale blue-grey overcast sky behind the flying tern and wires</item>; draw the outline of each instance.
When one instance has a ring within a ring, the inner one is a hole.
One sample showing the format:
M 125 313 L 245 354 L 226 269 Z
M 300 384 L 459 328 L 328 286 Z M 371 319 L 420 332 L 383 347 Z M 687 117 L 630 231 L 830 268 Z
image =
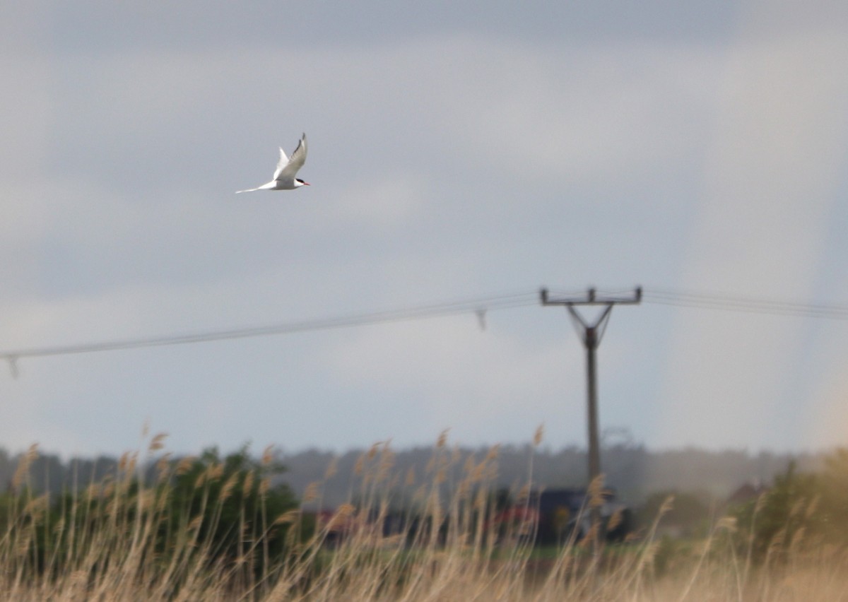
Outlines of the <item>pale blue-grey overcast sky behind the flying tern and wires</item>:
M 848 304 L 844 2 L 126 4 L 0 8 L 0 353 L 541 286 Z M 234 194 L 304 131 L 310 187 Z M 652 449 L 848 444 L 848 321 L 622 306 L 599 365 Z M 13 450 L 586 438 L 538 305 L 6 368 Z

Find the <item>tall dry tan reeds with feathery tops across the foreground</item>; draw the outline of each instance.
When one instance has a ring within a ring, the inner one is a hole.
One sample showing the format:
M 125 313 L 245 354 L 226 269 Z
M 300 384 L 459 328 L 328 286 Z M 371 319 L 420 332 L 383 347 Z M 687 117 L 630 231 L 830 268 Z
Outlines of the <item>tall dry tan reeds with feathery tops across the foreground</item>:
M 228 525 L 239 535 L 236 555 L 222 554 L 223 504 L 239 486 L 220 465 L 195 482 L 203 511 L 177 513 L 170 483 L 190 461 L 161 454 L 162 436 L 146 453 L 127 453 L 101 482 L 70 491 L 31 493 L 28 463 L 20 463 L 3 509 L 0 599 L 14 600 L 810 600 L 848 596 L 844 549 L 792 541 L 773 543 L 763 561 L 750 555 L 750 526 L 722 517 L 697 541 L 658 536 L 661 516 L 633 541 L 595 547 L 594 533 L 558 549 L 532 545 L 536 526 L 519 513 L 494 521 L 498 448 L 463 455 L 438 439 L 419 474 L 398 474 L 388 443 L 362 454 L 351 475 L 351 497 L 332 513 L 321 506 L 321 483 L 303 505 L 279 516 L 243 512 Z M 541 441 L 541 431 L 533 439 Z M 269 456 L 266 452 L 265 456 Z M 270 461 L 266 458 L 267 461 Z M 518 504 L 530 504 L 527 482 Z M 155 477 L 142 465 L 155 463 Z M 332 477 L 334 466 L 327 469 Z M 147 471 L 144 471 L 147 474 Z M 223 487 L 211 487 L 215 482 Z M 250 481 L 249 483 L 247 481 Z M 268 484 L 263 485 L 267 491 Z M 249 487 L 248 487 L 249 488 Z M 601 483 L 589 496 L 600 504 Z M 212 492 L 216 492 L 213 494 Z M 669 499 L 660 515 L 672 504 Z M 814 511 L 814 510 L 808 510 Z M 391 519 L 398 527 L 384 532 Z M 756 520 L 756 512 L 755 519 Z M 284 530 L 285 552 L 267 542 Z M 779 539 L 779 538 L 778 538 Z M 780 554 L 778 554 L 778 550 Z M 260 570 L 258 570 L 258 567 Z

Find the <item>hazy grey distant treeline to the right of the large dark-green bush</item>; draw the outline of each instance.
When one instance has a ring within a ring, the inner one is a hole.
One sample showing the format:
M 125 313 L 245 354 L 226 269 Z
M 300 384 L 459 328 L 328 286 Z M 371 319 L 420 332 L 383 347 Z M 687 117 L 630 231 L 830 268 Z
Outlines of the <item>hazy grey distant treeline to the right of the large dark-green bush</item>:
M 308 449 L 291 454 L 280 454 L 278 460 L 287 466 L 283 476 L 293 490 L 301 494 L 310 482 L 323 484 L 323 504 L 333 507 L 355 495 L 358 482 L 354 467 L 365 450 L 351 450 L 338 455 L 319 449 Z M 488 448 L 459 448 L 455 450 L 462 460 L 474 454 L 477 461 L 488 453 Z M 399 475 L 410 469 L 423 476 L 433 449 L 427 447 L 395 450 L 393 470 Z M 619 498 L 628 504 L 641 504 L 657 491 L 697 492 L 701 497 L 724 499 L 746 482 L 771 483 L 778 473 L 786 471 L 789 462 L 801 471 L 817 471 L 826 453 L 777 454 L 762 451 L 751 454 L 747 450 L 728 449 L 708 451 L 685 448 L 653 451 L 642 445 L 622 444 L 602 449 L 601 464 L 605 482 L 615 488 Z M 333 462 L 337 468 L 334 476 L 325 479 L 327 466 Z M 533 458 L 533 487 L 572 488 L 584 487 L 587 480 L 586 450 L 577 446 L 552 450 L 545 447 L 533 449 L 531 445 L 505 445 L 499 448 L 498 485 L 504 488 L 522 488 L 530 476 Z M 459 467 L 463 461 L 456 463 Z M 459 480 L 459 471 L 454 475 Z

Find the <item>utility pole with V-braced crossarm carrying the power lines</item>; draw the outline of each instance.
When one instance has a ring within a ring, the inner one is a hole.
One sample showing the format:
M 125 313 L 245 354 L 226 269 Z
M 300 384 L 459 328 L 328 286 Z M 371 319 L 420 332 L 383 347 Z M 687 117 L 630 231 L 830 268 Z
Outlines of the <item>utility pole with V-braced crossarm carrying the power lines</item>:
M 598 437 L 598 371 L 595 351 L 604 336 L 606 324 L 610 320 L 612 306 L 616 304 L 639 304 L 642 300 L 642 287 L 636 287 L 632 296 L 628 297 L 599 297 L 594 288 L 589 288 L 585 297 L 550 299 L 548 289 L 540 292 L 543 305 L 565 305 L 572 317 L 572 323 L 577 329 L 577 336 L 586 348 L 586 404 L 587 421 L 589 423 L 589 483 L 600 476 L 600 440 Z M 594 322 L 583 319 L 574 309 L 575 305 L 602 305 L 600 315 Z M 588 491 L 588 489 L 587 489 Z M 594 531 L 594 549 L 600 549 L 600 508 L 591 508 L 592 530 Z

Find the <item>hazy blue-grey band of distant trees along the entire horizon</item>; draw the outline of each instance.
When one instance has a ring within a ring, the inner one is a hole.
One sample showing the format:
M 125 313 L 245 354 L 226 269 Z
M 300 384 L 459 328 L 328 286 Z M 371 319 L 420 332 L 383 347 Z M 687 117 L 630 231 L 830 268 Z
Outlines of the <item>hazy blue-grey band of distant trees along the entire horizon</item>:
M 455 472 L 449 477 L 458 482 L 466 458 L 474 455 L 479 461 L 488 451 L 488 448 L 452 449 L 460 461 L 454 463 L 452 470 Z M 307 449 L 297 453 L 277 453 L 276 460 L 287 469 L 278 480 L 287 483 L 298 497 L 303 496 L 310 483 L 320 483 L 320 504 L 333 508 L 356 498 L 360 482 L 355 475 L 355 466 L 366 452 L 365 449 L 354 449 L 344 454 L 333 454 Z M 401 476 L 401 482 L 404 475 L 410 474 L 410 469 L 419 478 L 427 478 L 426 467 L 432 458 L 432 448 L 396 449 L 393 454 L 393 471 Z M 9 454 L 0 449 L 0 490 L 12 488 L 15 471 L 24 455 Z M 817 471 L 824 456 L 824 452 L 788 454 L 762 451 L 752 454 L 744 449 L 653 451 L 641 445 L 622 444 L 603 449 L 601 461 L 607 485 L 615 488 L 619 497 L 628 504 L 640 504 L 650 493 L 669 490 L 699 492 L 722 499 L 746 482 L 772 482 L 775 475 L 786 471 L 792 460 L 795 460 L 799 471 Z M 545 447 L 533 449 L 530 445 L 504 445 L 499 447 L 498 452 L 498 486 L 518 489 L 527 484 L 531 457 L 533 487 L 585 485 L 587 461 L 584 449 L 577 446 L 552 450 Z M 62 460 L 55 454 L 39 454 L 30 465 L 26 482 L 36 491 L 58 493 L 81 489 L 92 481 L 114 475 L 119 461 L 110 456 Z M 331 465 L 334 465 L 332 476 L 326 477 Z

